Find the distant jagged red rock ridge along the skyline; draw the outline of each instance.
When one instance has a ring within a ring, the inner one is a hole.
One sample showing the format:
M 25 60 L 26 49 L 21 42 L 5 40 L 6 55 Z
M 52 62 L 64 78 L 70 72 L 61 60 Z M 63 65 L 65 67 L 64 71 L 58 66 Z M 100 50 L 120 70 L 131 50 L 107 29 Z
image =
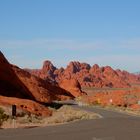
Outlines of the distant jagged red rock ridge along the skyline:
M 29 70 L 30 73 L 49 79 L 52 83 L 60 83 L 64 79 L 76 79 L 82 87 L 115 87 L 127 88 L 132 83 L 140 83 L 140 77 L 125 71 L 113 70 L 111 67 L 91 67 L 87 63 L 70 62 L 64 69 L 57 69 L 50 61 L 40 70 Z

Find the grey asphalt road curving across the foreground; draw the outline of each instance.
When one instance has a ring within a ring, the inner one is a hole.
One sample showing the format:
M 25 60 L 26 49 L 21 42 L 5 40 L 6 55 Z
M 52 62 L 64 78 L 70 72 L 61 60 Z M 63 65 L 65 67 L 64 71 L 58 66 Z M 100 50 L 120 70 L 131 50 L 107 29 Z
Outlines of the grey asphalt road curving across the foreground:
M 42 128 L 0 130 L 0 140 L 140 140 L 139 117 L 97 108 L 82 109 L 99 113 L 103 118 Z

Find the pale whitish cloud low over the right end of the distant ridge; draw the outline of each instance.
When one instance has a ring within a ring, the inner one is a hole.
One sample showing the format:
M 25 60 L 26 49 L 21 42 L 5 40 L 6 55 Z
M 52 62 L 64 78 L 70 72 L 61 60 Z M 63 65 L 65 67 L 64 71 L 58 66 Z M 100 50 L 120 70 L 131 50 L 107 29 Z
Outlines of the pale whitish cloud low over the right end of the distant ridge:
M 84 61 L 90 64 L 99 64 L 100 66 L 110 65 L 114 69 L 124 69 L 130 72 L 140 70 L 140 55 L 104 55 L 87 57 Z M 81 60 L 82 61 L 82 60 Z

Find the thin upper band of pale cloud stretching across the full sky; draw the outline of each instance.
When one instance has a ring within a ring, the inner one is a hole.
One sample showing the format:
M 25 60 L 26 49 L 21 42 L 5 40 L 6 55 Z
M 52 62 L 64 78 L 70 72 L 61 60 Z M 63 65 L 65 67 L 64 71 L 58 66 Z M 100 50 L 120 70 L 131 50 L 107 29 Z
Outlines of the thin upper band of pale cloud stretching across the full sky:
M 0 47 L 3 48 L 45 48 L 53 49 L 68 49 L 68 50 L 85 50 L 91 51 L 103 49 L 112 50 L 119 49 L 139 49 L 140 38 L 128 39 L 123 41 L 109 40 L 69 40 L 69 39 L 33 39 L 33 40 L 0 40 Z

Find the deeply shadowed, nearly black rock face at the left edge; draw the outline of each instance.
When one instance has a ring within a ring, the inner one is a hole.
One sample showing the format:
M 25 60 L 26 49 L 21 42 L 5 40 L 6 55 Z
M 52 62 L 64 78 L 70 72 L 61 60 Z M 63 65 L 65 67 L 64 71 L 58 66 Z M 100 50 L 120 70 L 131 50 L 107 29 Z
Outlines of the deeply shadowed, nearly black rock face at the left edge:
M 19 80 L 4 55 L 0 52 L 0 95 L 34 99 L 28 88 Z

